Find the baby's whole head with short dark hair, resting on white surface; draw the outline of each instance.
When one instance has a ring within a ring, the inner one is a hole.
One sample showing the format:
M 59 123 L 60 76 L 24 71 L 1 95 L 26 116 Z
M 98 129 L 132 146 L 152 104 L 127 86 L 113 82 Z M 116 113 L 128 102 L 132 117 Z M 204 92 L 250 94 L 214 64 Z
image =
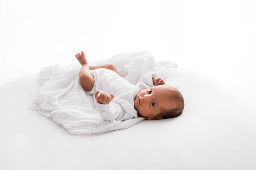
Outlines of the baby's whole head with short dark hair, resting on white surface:
M 184 109 L 181 93 L 167 84 L 151 87 L 138 92 L 134 100 L 138 116 L 151 119 L 165 119 L 179 116 Z

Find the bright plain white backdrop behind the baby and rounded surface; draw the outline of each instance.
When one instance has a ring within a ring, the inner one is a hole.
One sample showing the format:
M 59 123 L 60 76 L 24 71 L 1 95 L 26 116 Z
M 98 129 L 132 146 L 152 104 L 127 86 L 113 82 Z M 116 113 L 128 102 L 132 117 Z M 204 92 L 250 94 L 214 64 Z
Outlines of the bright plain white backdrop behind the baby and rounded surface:
M 0 0 L 0 85 L 42 66 L 150 51 L 256 103 L 255 1 Z

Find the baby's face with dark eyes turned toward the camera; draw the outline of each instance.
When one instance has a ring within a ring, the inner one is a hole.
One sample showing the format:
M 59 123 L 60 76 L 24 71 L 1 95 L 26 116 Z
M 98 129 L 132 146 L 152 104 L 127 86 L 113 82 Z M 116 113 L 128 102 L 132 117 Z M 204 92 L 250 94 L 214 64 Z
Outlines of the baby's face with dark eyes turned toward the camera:
M 139 91 L 134 100 L 135 110 L 143 117 L 161 119 L 157 116 L 161 109 L 170 110 L 175 104 L 166 95 L 169 90 L 168 86 L 163 84 Z

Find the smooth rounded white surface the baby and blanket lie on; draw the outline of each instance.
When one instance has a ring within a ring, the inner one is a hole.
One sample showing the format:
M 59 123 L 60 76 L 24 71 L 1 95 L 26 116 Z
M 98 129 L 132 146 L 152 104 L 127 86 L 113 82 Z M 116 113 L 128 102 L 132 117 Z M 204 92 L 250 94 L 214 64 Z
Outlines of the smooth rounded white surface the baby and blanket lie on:
M 182 115 L 71 135 L 27 105 L 39 72 L 0 87 L 0 169 L 256 168 L 256 107 L 191 70 L 175 70 Z

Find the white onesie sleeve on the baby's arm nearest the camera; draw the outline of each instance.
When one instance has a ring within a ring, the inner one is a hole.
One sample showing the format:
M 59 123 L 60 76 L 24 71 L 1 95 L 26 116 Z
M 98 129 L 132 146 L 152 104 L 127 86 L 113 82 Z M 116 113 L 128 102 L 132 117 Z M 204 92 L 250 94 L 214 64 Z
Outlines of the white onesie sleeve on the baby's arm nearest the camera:
M 93 97 L 93 99 L 97 107 L 97 110 L 100 114 L 100 117 L 102 119 L 112 121 L 122 116 L 122 115 L 119 115 L 119 114 L 122 114 L 122 110 L 123 110 L 121 105 L 118 105 L 112 101 L 109 104 L 101 104 L 95 99 L 95 97 Z

